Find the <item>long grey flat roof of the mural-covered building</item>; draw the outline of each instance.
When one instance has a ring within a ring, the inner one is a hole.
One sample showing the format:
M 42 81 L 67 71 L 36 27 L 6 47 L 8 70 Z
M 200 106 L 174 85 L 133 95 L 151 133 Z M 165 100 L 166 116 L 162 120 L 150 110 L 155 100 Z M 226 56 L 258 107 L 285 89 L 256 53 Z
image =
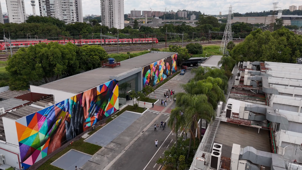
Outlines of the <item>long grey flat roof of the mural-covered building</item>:
M 129 73 L 173 54 L 175 53 L 147 53 L 121 61 L 120 66 L 118 67 L 100 67 L 81 74 L 43 84 L 39 87 L 78 94 L 110 81 L 110 76 Z

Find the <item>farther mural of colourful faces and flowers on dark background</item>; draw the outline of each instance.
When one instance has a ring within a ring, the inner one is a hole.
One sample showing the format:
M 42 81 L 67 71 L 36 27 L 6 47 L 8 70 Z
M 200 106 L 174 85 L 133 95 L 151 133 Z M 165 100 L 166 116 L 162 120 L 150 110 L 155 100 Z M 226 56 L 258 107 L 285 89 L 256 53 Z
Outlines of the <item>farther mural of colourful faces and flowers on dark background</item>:
M 154 86 L 177 70 L 177 54 L 143 67 L 143 86 Z

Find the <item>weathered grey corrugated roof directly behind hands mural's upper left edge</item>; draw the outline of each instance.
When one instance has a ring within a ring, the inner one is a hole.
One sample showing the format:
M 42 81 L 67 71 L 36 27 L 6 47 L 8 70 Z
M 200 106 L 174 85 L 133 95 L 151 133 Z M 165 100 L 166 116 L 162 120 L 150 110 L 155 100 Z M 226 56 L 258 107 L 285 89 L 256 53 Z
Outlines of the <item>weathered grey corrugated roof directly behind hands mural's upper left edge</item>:
M 18 99 L 16 99 L 16 100 L 18 100 Z M 5 114 L 1 115 L 0 116 L 0 140 L 6 141 L 2 117 L 7 117 L 7 118 L 10 118 L 13 120 L 17 120 L 24 116 L 35 113 L 39 110 L 42 110 L 42 109 L 26 105 L 26 106 L 19 107 L 16 110 L 13 110 L 11 112 L 6 112 Z

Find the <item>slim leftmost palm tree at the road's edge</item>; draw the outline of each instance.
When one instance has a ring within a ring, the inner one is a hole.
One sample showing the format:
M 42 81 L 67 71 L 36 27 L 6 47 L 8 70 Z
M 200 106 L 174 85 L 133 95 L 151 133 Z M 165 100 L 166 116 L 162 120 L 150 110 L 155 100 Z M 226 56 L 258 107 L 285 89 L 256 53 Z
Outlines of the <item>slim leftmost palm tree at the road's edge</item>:
M 177 148 L 178 142 L 178 129 L 183 128 L 185 124 L 185 117 L 181 115 L 182 112 L 181 107 L 175 107 L 171 110 L 170 119 L 168 122 L 168 126 L 172 129 L 173 133 L 176 133 L 176 144 L 175 147 Z

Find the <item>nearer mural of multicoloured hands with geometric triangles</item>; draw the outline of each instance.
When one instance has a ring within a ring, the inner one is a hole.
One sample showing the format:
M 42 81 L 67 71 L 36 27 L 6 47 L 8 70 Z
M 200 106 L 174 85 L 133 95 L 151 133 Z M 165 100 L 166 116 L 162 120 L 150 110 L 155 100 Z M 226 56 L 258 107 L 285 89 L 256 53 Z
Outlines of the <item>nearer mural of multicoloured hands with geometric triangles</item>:
M 28 168 L 118 109 L 112 80 L 16 121 L 21 162 Z

